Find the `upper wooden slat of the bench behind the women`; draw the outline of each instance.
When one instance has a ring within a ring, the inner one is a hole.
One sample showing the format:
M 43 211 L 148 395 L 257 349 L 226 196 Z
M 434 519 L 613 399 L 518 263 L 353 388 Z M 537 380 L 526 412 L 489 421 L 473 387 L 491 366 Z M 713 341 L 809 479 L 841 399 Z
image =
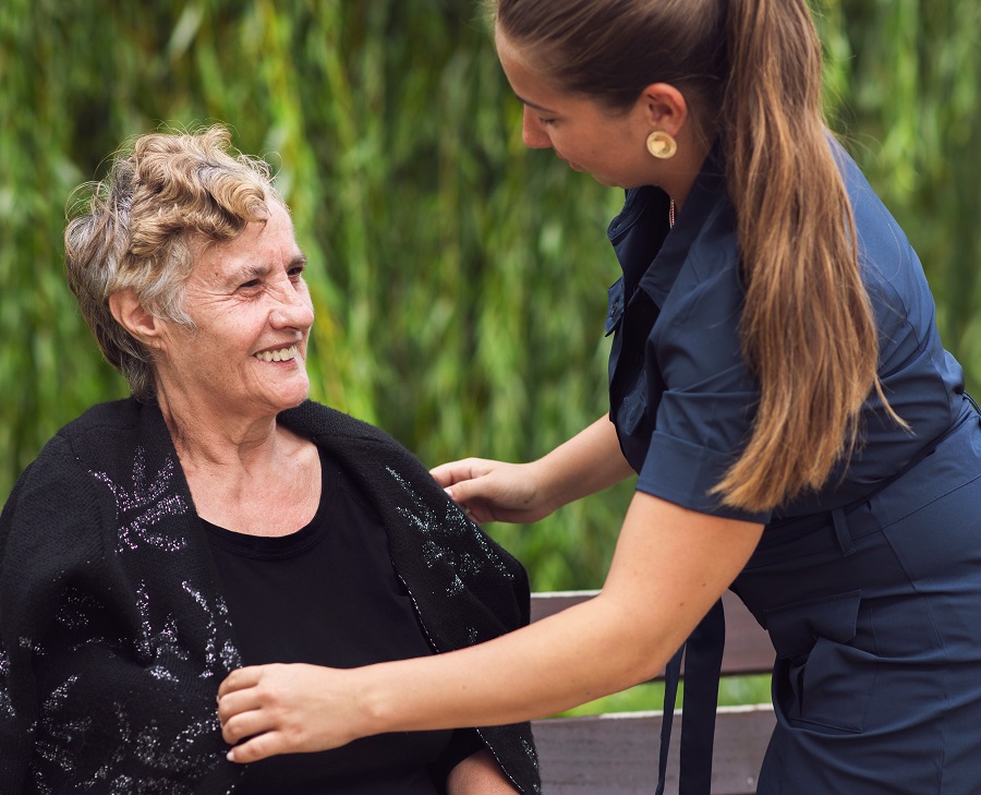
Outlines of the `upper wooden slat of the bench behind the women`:
M 547 591 L 532 594 L 532 621 L 595 597 L 597 591 Z M 723 674 L 767 674 L 773 667 L 774 652 L 766 630 L 731 591 L 723 595 L 726 610 L 726 651 Z

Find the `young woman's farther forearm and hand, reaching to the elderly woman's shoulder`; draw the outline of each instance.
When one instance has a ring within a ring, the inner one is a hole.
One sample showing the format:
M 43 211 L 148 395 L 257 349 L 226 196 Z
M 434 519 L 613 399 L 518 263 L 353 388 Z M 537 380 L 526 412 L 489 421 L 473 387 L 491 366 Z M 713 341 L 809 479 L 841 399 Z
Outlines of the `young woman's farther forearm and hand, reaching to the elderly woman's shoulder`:
M 537 521 L 633 474 L 609 415 L 530 463 L 467 458 L 432 470 L 475 521 Z

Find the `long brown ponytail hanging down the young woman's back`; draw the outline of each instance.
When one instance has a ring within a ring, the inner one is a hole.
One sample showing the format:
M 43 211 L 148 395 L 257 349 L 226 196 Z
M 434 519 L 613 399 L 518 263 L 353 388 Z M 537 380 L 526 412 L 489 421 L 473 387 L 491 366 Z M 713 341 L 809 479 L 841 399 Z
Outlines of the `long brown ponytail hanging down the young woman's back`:
M 714 491 L 764 510 L 825 483 L 853 450 L 873 387 L 887 403 L 807 2 L 728 5 L 720 130 L 747 282 L 742 351 L 760 403 L 746 449 Z

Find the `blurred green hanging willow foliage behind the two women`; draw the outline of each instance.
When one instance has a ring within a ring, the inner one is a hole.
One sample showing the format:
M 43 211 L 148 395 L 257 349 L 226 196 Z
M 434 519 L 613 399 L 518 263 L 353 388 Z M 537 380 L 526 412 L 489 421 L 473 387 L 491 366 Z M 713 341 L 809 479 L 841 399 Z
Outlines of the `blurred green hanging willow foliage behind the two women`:
M 981 393 L 978 0 L 816 0 L 832 128 L 920 253 Z M 606 410 L 622 192 L 521 143 L 474 0 L 0 3 L 0 502 L 128 394 L 65 287 L 64 208 L 125 140 L 228 124 L 310 256 L 312 397 L 428 466 L 526 460 Z M 764 219 L 765 221 L 765 219 Z M 630 485 L 488 531 L 537 590 L 596 588 Z

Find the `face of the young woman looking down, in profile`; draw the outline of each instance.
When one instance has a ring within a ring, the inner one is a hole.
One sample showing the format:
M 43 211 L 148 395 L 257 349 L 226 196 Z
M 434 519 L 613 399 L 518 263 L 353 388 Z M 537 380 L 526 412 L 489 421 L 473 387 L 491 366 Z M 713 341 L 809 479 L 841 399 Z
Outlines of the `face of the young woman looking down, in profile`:
M 640 108 L 615 115 L 595 100 L 559 93 L 499 27 L 495 41 L 508 82 L 524 103 L 522 137 L 528 147 L 550 147 L 570 168 L 604 185 L 650 184 L 650 124 Z

